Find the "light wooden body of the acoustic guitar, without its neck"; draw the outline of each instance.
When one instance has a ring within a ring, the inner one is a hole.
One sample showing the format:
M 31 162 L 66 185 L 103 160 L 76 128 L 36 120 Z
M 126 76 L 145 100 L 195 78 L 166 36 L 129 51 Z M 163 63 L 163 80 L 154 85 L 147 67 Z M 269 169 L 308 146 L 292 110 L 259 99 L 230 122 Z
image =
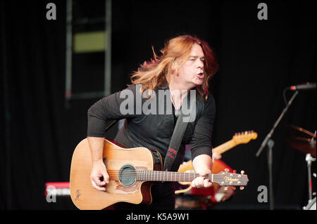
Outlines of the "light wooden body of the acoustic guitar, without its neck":
M 103 158 L 110 177 L 106 192 L 92 187 L 92 157 L 87 138 L 73 152 L 70 197 L 78 209 L 105 209 L 117 202 L 151 204 L 152 182 L 138 181 L 133 177 L 126 179 L 122 173 L 133 173 L 133 169 L 161 171 L 159 152 L 145 147 L 126 148 L 105 139 Z

